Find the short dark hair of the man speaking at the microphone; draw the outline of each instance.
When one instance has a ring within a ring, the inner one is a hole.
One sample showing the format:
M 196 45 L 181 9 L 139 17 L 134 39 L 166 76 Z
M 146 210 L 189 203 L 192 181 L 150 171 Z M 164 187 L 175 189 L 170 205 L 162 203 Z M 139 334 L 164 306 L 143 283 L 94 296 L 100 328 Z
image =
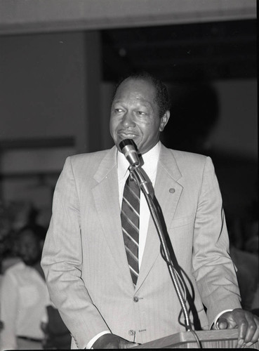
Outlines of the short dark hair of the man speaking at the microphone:
M 145 71 L 133 73 L 133 74 L 128 75 L 127 77 L 121 78 L 114 88 L 114 94 L 112 96 L 112 101 L 114 100 L 114 97 L 117 93 L 119 86 L 126 79 L 142 79 L 144 81 L 149 81 L 154 86 L 154 88 L 156 90 L 155 102 L 157 103 L 157 105 L 159 107 L 159 117 L 163 117 L 164 114 L 166 113 L 166 111 L 170 110 L 171 101 L 170 101 L 168 90 L 167 90 L 165 84 L 157 77 L 154 77 L 152 74 L 150 74 L 149 72 L 145 72 Z

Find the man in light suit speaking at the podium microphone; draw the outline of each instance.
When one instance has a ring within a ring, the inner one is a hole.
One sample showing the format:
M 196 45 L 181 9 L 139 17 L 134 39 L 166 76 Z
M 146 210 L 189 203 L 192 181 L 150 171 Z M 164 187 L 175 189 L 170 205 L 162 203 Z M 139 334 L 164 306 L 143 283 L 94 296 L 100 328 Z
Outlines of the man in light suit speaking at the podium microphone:
M 72 348 L 129 348 L 185 331 L 143 194 L 139 275 L 133 285 L 121 230 L 129 166 L 119 147 L 124 139 L 138 146 L 142 168 L 154 185 L 195 328 L 239 326 L 239 345 L 258 340 L 258 318 L 241 310 L 212 161 L 159 142 L 169 117 L 164 84 L 149 74 L 128 77 L 112 102 L 115 146 L 65 162 L 41 265 L 53 303 L 72 334 Z

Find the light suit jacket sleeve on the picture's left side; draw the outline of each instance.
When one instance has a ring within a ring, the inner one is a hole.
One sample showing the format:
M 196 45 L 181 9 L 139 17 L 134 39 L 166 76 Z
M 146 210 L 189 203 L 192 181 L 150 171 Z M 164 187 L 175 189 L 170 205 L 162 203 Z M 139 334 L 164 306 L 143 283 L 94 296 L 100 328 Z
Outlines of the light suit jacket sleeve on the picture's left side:
M 109 330 L 81 279 L 79 194 L 69 157 L 55 187 L 53 216 L 44 243 L 41 265 L 51 300 L 77 347 L 86 347 L 95 335 Z

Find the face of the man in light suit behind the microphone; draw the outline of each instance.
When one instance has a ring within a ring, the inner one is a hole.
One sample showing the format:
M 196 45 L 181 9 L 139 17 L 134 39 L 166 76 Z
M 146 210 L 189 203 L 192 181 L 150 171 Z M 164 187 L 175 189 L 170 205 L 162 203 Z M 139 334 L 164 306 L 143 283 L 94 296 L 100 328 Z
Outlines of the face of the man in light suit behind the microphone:
M 159 117 L 154 86 L 142 79 L 126 79 L 114 96 L 109 120 L 109 131 L 118 150 L 124 139 L 133 139 L 141 154 L 159 141 L 169 112 Z

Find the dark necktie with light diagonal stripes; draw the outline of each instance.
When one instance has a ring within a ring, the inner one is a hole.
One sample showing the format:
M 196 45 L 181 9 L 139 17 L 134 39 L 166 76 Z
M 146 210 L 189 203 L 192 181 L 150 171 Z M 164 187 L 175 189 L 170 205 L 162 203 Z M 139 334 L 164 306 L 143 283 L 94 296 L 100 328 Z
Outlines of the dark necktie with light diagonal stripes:
M 121 227 L 124 236 L 124 245 L 131 271 L 133 285 L 138 280 L 138 237 L 140 223 L 140 188 L 128 176 L 121 206 Z

